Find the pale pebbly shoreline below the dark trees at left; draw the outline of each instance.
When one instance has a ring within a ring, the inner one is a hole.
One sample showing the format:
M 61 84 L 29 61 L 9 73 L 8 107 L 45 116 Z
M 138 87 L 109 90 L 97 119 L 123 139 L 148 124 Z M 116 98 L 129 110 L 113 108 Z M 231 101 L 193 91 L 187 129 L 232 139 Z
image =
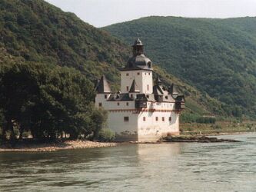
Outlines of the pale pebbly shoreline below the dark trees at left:
M 59 141 L 52 143 L 18 143 L 12 147 L 10 144 L 0 145 L 1 152 L 49 152 L 68 149 L 82 149 L 95 147 L 115 147 L 117 143 L 101 143 L 94 141 Z

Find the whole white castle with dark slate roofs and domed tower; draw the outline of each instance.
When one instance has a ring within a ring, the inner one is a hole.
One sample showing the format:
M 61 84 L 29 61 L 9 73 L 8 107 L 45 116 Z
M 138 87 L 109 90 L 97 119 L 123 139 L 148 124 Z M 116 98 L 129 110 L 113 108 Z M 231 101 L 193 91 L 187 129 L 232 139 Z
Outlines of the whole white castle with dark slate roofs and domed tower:
M 120 68 L 121 91 L 112 93 L 105 76 L 96 87 L 95 105 L 108 111 L 108 127 L 117 141 L 158 141 L 167 134 L 179 134 L 179 117 L 185 99 L 175 85 L 162 86 L 160 78 L 153 84 L 151 60 L 143 53 L 138 38 L 133 56 Z

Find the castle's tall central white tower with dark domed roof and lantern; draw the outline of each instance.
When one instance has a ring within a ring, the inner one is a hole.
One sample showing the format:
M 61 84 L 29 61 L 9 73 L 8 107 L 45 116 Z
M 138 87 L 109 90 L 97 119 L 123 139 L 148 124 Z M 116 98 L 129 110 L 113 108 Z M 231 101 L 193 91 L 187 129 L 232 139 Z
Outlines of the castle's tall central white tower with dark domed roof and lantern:
M 141 94 L 151 94 L 153 92 L 152 65 L 149 58 L 143 53 L 141 40 L 137 38 L 133 48 L 133 56 L 129 58 L 125 68 L 121 68 L 121 92 L 128 93 L 131 84 L 135 80 Z

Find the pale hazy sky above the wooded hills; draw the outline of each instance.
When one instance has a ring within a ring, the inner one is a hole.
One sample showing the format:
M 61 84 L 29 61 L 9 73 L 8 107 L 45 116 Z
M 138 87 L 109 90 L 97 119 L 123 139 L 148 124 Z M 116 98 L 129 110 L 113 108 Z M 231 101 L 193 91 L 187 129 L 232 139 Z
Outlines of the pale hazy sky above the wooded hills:
M 256 16 L 256 0 L 46 0 L 95 27 L 151 15 L 231 18 Z

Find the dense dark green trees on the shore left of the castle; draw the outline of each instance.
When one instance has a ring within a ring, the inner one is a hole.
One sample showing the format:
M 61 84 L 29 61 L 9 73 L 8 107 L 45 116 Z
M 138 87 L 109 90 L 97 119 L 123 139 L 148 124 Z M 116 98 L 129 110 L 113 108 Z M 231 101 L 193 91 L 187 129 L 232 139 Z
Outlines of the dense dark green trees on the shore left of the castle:
M 73 68 L 29 62 L 0 66 L 0 127 L 2 140 L 98 137 L 106 111 L 94 106 L 91 81 Z

